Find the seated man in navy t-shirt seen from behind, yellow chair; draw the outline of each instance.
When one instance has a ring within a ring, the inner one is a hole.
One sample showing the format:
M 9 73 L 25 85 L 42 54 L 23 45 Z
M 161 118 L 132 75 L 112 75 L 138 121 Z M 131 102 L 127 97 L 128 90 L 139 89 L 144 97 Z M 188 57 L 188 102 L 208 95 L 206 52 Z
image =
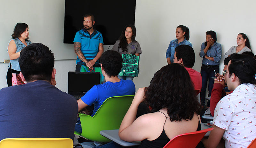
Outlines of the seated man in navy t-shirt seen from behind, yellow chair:
M 54 56 L 43 44 L 20 52 L 20 77 L 27 84 L 0 90 L 0 140 L 56 137 L 74 139 L 78 105 L 56 84 Z M 51 85 L 52 84 L 52 85 Z

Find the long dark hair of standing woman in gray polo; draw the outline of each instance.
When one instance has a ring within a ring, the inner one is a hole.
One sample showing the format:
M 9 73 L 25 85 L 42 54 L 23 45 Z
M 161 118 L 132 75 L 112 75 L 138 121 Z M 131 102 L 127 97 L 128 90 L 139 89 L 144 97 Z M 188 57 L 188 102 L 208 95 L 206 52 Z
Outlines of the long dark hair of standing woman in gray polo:
M 127 43 L 127 40 L 126 40 L 126 37 L 125 37 L 125 30 L 127 27 L 131 27 L 132 28 L 132 41 L 136 41 L 135 40 L 135 37 L 136 37 L 136 28 L 134 25 L 126 25 L 121 33 L 121 36 L 119 37 L 119 40 L 120 40 L 120 43 L 119 43 L 119 46 L 118 48 L 121 48 L 122 51 L 127 51 L 127 46 L 128 46 L 128 43 Z

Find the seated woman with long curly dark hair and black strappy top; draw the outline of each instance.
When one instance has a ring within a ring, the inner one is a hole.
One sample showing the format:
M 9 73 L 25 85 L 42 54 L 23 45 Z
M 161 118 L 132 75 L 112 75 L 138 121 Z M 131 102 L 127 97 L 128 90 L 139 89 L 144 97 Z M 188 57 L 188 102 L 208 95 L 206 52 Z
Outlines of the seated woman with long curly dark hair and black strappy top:
M 136 118 L 141 102 L 150 113 Z M 180 134 L 201 130 L 200 104 L 188 71 L 177 63 L 157 71 L 149 87 L 140 88 L 119 129 L 121 140 L 142 141 L 139 148 L 163 148 Z M 102 147 L 121 147 L 116 143 Z

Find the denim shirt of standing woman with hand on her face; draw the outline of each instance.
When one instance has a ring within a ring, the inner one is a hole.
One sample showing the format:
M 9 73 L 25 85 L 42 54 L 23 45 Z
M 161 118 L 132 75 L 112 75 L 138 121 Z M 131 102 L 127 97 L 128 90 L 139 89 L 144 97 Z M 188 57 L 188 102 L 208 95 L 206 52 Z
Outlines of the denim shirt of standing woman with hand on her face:
M 201 50 L 200 50 L 200 57 L 203 58 L 202 64 L 204 65 L 219 65 L 220 64 L 220 59 L 221 59 L 221 45 L 220 43 L 215 42 L 206 52 L 208 57 L 212 57 L 212 60 L 208 60 L 205 58 L 205 53 L 204 53 L 205 45 L 204 42 L 201 45 Z

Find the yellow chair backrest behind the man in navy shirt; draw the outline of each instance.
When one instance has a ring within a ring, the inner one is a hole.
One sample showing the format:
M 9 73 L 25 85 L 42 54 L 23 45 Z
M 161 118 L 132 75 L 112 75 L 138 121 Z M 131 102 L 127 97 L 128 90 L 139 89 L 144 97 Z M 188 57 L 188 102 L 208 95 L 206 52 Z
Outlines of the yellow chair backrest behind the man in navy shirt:
M 73 148 L 70 138 L 6 138 L 0 141 L 0 148 Z

